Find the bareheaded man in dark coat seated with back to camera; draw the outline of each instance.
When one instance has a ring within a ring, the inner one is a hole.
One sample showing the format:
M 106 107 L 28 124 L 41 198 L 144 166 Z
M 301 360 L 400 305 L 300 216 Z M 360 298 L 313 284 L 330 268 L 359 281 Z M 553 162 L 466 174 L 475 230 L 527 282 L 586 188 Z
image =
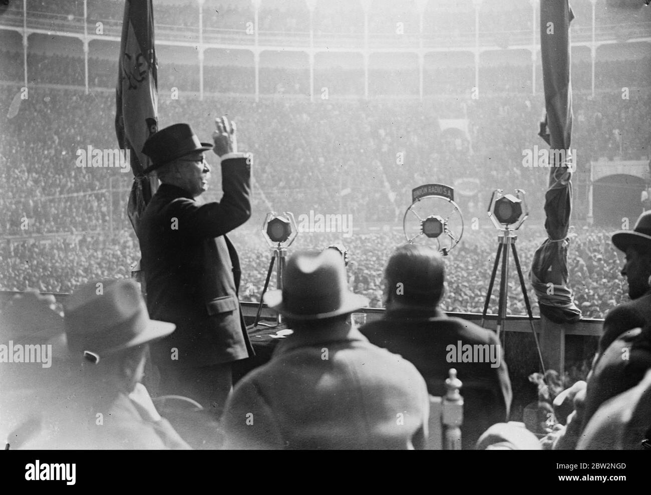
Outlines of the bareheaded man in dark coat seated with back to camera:
M 449 369 L 457 370 L 464 396 L 462 448 L 472 449 L 488 427 L 508 421 L 511 382 L 495 333 L 437 309 L 444 277 L 435 249 L 397 248 L 385 268 L 385 317 L 360 331 L 371 343 L 411 361 L 431 395 L 445 395 Z

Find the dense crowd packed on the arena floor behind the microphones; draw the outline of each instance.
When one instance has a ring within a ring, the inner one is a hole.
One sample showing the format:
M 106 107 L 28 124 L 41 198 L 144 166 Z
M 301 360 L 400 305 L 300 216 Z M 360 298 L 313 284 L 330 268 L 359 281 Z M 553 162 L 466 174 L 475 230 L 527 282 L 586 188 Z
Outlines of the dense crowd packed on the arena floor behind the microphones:
M 623 257 L 609 242 L 609 231 L 583 229 L 571 234 L 568 269 L 570 288 L 583 317 L 603 318 L 605 313 L 626 299 L 626 282 L 620 277 Z M 259 231 L 243 228 L 232 234 L 242 264 L 243 301 L 259 302 L 271 251 Z M 533 251 L 544 240 L 540 227 L 526 227 L 519 233 L 518 253 L 525 277 Z M 339 234 L 301 233 L 292 249 L 326 248 L 343 243 L 350 256 L 349 287 L 370 300 L 371 307 L 383 307 L 382 260 L 393 248 L 404 243 L 404 234 L 388 229 L 378 233 Z M 493 229 L 469 230 L 447 258 L 449 274 L 441 308 L 455 313 L 482 313 L 488 291 L 497 237 Z M 38 289 L 43 292 L 71 292 L 90 279 L 129 277 L 130 265 L 139 259 L 133 231 L 111 236 L 104 233 L 68 234 L 41 240 L 12 240 L 0 246 L 0 271 L 4 290 Z M 526 307 L 513 272 L 509 279 L 508 314 L 526 315 Z M 499 280 L 499 274 L 497 276 Z M 271 277 L 269 290 L 275 287 Z M 497 313 L 499 290 L 493 288 L 489 313 Z M 534 316 L 538 304 L 527 284 Z

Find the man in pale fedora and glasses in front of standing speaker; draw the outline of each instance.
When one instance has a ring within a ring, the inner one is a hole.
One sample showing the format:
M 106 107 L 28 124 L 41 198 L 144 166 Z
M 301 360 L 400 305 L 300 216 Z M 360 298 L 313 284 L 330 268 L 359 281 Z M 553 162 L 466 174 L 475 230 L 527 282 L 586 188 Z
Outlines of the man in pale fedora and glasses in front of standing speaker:
M 46 425 L 31 449 L 189 449 L 159 416 L 141 380 L 148 343 L 174 331 L 150 320 L 137 284 L 98 280 L 79 287 L 64 311 L 76 384 L 52 392 Z

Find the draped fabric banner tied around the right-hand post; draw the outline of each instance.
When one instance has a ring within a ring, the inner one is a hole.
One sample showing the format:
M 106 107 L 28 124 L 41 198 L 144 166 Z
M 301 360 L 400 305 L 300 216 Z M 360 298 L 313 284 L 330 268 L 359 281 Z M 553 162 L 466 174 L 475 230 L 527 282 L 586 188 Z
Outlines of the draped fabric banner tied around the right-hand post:
M 540 48 L 545 89 L 546 126 L 540 137 L 549 145 L 549 184 L 545 195 L 547 239 L 534 253 L 529 278 L 540 313 L 553 322 L 581 319 L 568 288 L 568 228 L 572 212 L 572 172 L 576 158 L 572 141 L 572 85 L 570 83 L 570 22 L 568 0 L 540 0 Z M 548 130 L 547 131 L 546 129 Z

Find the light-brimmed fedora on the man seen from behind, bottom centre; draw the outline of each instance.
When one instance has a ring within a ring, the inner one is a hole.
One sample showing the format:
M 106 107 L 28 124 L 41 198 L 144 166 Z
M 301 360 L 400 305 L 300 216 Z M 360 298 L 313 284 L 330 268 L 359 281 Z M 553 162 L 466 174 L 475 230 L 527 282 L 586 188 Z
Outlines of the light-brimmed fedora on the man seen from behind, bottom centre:
M 346 283 L 344 259 L 333 249 L 298 252 L 287 261 L 283 290 L 270 290 L 264 302 L 294 320 L 322 320 L 368 305 Z

